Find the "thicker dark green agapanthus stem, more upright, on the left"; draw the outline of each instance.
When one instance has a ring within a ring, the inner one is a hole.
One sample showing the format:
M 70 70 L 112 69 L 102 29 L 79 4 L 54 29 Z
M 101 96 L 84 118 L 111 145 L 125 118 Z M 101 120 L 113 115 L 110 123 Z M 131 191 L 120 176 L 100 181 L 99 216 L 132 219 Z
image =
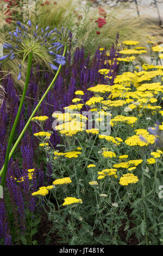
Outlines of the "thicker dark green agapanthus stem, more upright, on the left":
M 33 57 L 33 53 L 29 52 L 29 54 L 28 54 L 28 67 L 27 67 L 27 74 L 26 74 L 26 82 L 25 82 L 25 85 L 24 85 L 23 95 L 22 95 L 22 99 L 21 99 L 21 102 L 20 102 L 20 106 L 18 107 L 18 111 L 17 111 L 17 114 L 16 114 L 16 118 L 15 118 L 14 124 L 12 126 L 11 133 L 10 133 L 8 147 L 7 147 L 7 151 L 6 151 L 6 154 L 5 154 L 5 161 L 4 161 L 4 166 L 3 166 L 3 175 L 1 173 L 1 175 L 2 175 L 1 186 L 2 187 L 4 187 L 5 178 L 6 178 L 6 175 L 7 175 L 8 162 L 10 160 L 9 154 L 10 154 L 10 148 L 11 148 L 12 140 L 13 140 L 13 137 L 14 137 L 16 126 L 17 126 L 17 123 L 18 123 L 18 119 L 20 117 L 20 113 L 21 113 L 21 110 L 22 110 L 23 102 L 24 102 L 24 99 L 25 99 L 25 96 L 26 96 L 26 92 L 27 92 L 27 88 L 28 88 L 29 77 L 30 77 L 30 70 L 31 70 L 31 67 L 32 67 L 32 57 Z

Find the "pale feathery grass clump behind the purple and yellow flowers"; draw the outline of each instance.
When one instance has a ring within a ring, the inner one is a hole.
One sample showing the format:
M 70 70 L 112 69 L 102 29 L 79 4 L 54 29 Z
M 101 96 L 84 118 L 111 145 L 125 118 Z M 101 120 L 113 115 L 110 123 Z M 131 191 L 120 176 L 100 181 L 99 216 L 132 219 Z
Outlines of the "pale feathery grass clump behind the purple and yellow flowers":
M 89 8 L 90 5 L 79 5 L 79 2 L 72 0 L 48 1 L 50 4 L 40 5 L 37 11 L 31 14 L 31 20 L 39 23 L 40 27 L 52 26 L 60 28 L 66 26 L 71 29 L 78 39 L 78 46 L 84 45 L 87 52 L 95 51 L 95 48 L 109 48 L 115 43 L 117 32 L 120 34 L 119 41 L 134 38 L 142 45 L 146 44 L 146 35 L 155 35 L 159 39 L 161 28 L 153 21 L 147 21 L 147 17 L 138 17 L 135 11 L 126 12 L 125 6 L 105 8 L 106 24 L 98 28 L 95 22 L 100 15 L 98 8 Z M 102 17 L 102 16 L 101 16 Z M 100 34 L 96 34 L 99 31 Z

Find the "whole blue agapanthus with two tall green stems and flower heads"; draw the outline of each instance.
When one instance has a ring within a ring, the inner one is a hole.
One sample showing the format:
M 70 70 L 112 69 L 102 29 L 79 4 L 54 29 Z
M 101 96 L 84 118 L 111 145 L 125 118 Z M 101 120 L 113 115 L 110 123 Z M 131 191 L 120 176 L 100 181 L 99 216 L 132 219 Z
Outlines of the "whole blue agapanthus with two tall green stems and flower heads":
M 28 20 L 28 27 L 22 25 L 21 22 L 17 21 L 17 27 L 14 32 L 9 32 L 10 34 L 10 42 L 4 43 L 3 48 L 9 53 L 5 54 L 4 56 L 0 57 L 0 61 L 4 62 L 4 60 L 14 59 L 17 55 L 23 54 L 22 63 L 19 65 L 20 72 L 18 74 L 17 80 L 19 81 L 21 79 L 21 68 L 24 63 L 24 60 L 28 56 L 28 68 L 27 68 L 27 74 L 26 74 L 26 82 L 23 90 L 22 99 L 20 102 L 20 106 L 18 108 L 18 112 L 16 114 L 16 118 L 14 121 L 14 125 L 12 126 L 12 130 L 9 137 L 7 152 L 5 155 L 5 162 L 4 166 L 1 169 L 0 176 L 2 175 L 1 185 L 4 186 L 5 177 L 7 175 L 7 169 L 8 169 L 8 162 L 12 155 L 12 152 L 15 150 L 18 142 L 20 141 L 21 137 L 23 136 L 24 132 L 26 131 L 30 121 L 34 117 L 35 112 L 37 111 L 37 108 L 39 108 L 41 102 L 53 86 L 53 83 L 55 82 L 59 71 L 61 69 L 61 65 L 65 64 L 65 53 L 66 53 L 66 47 L 67 43 L 69 42 L 71 38 L 71 32 L 67 31 L 67 29 L 61 28 L 61 32 L 57 29 L 52 29 L 49 31 L 49 26 L 47 26 L 45 29 L 41 28 L 39 31 L 39 26 L 35 26 L 35 31 L 32 31 L 32 22 Z M 39 32 L 39 33 L 38 33 Z M 55 36 L 54 36 L 55 35 Z M 53 38 L 52 38 L 53 36 Z M 59 42 L 56 41 L 56 39 L 59 38 Z M 57 51 L 64 47 L 63 55 L 57 54 Z M 18 119 L 20 117 L 21 109 L 23 106 L 24 98 L 26 96 L 29 78 L 30 78 L 30 72 L 32 68 L 32 59 L 33 56 L 36 56 L 38 59 L 47 59 L 49 65 L 53 70 L 58 70 L 57 74 L 55 74 L 51 84 L 49 85 L 48 89 L 46 90 L 45 94 L 42 96 L 41 100 L 37 104 L 36 108 L 34 109 L 32 115 L 30 115 L 30 118 L 27 121 L 26 126 L 24 127 L 21 135 L 18 137 L 14 147 L 12 148 L 12 151 L 10 153 L 11 143 L 12 139 L 14 137 L 14 133 L 16 130 L 16 126 L 18 123 Z M 53 62 L 59 64 L 58 66 L 54 65 Z

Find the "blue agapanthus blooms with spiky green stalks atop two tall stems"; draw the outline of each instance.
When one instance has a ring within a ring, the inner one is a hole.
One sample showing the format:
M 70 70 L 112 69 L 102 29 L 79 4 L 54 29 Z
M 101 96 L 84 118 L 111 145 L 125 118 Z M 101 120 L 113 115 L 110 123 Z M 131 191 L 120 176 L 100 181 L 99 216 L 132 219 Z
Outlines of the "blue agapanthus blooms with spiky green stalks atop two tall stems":
M 46 63 L 49 63 L 53 70 L 58 70 L 58 64 L 65 65 L 66 60 L 59 54 L 59 50 L 68 41 L 72 40 L 72 33 L 70 31 L 63 27 L 61 31 L 58 31 L 57 28 L 51 29 L 49 26 L 45 29 L 39 29 L 38 25 L 32 30 L 32 22 L 30 20 L 28 20 L 27 26 L 22 25 L 20 21 L 17 21 L 16 25 L 15 31 L 9 32 L 10 42 L 3 44 L 3 50 L 6 53 L 0 56 L 0 61 L 12 60 L 17 56 L 21 59 L 23 54 L 22 62 L 18 65 L 20 68 L 18 81 L 21 79 L 23 62 L 29 52 L 32 52 L 38 61 L 43 59 Z

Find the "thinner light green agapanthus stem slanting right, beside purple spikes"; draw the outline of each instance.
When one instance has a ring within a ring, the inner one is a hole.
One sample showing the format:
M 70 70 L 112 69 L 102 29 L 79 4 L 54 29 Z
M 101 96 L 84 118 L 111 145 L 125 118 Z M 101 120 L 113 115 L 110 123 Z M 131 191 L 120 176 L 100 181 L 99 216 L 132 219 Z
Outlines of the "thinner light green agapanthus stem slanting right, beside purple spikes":
M 66 47 L 66 45 L 65 45 L 65 47 L 64 47 L 64 53 L 63 53 L 62 56 L 65 56 L 66 48 L 67 48 L 67 47 Z M 30 118 L 28 119 L 27 124 L 24 126 L 24 129 L 22 130 L 20 136 L 18 137 L 17 141 L 15 142 L 14 146 L 12 147 L 12 149 L 11 149 L 11 151 L 10 151 L 10 154 L 9 154 L 9 160 L 10 160 L 12 154 L 14 153 L 14 150 L 16 149 L 18 143 L 20 142 L 22 136 L 24 135 L 24 132 L 27 130 L 27 127 L 28 127 L 30 121 L 32 120 L 32 118 L 34 117 L 34 114 L 36 113 L 37 109 L 40 107 L 42 101 L 45 99 L 45 97 L 46 97 L 46 95 L 48 94 L 49 90 L 52 88 L 52 86 L 53 86 L 53 84 L 54 84 L 55 80 L 57 79 L 57 76 L 58 76 L 58 74 L 59 74 L 59 72 L 60 72 L 60 69 L 61 69 L 61 65 L 59 65 L 59 68 L 58 68 L 58 70 L 57 70 L 57 73 L 55 74 L 55 76 L 54 76 L 54 78 L 53 78 L 51 84 L 50 84 L 49 87 L 47 88 L 45 94 L 43 94 L 41 100 L 39 101 L 39 103 L 38 103 L 37 106 L 35 107 L 35 109 L 34 109 L 32 115 L 30 115 Z M 3 173 L 3 170 L 4 170 L 4 166 L 2 167 L 2 169 L 1 169 L 1 171 L 0 171 L 0 177 L 1 177 L 2 173 Z

